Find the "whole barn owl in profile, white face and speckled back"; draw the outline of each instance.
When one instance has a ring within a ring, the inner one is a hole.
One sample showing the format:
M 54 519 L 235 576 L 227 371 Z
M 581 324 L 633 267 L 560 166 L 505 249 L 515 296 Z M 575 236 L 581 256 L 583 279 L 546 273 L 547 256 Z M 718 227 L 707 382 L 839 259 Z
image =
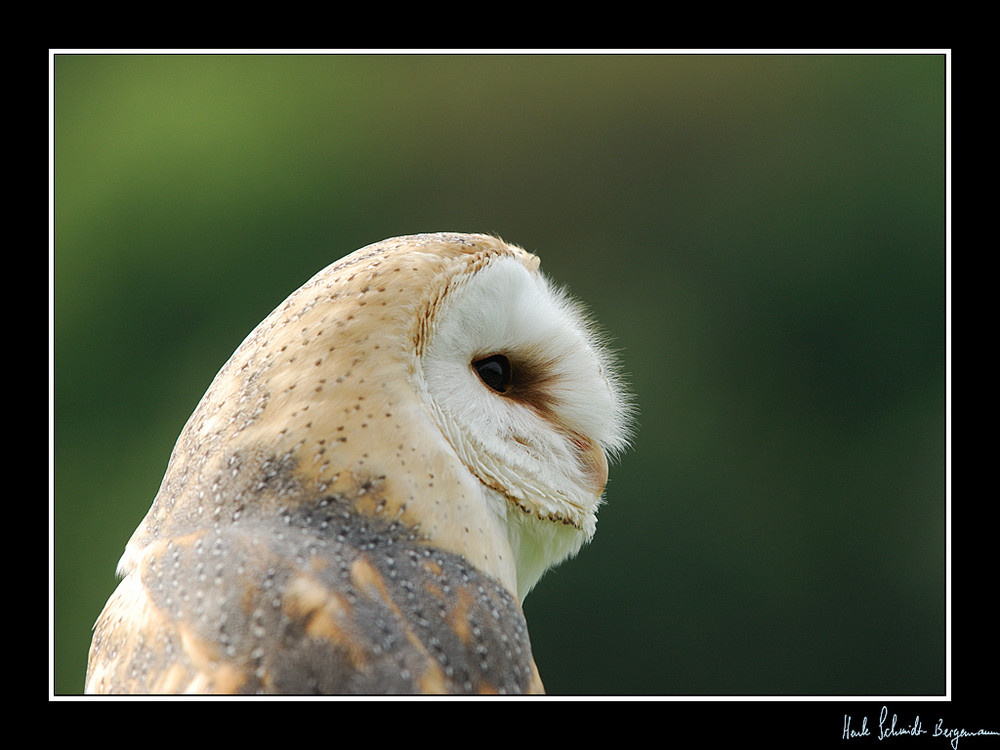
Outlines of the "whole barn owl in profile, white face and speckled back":
M 631 398 L 538 258 L 397 237 L 320 271 L 185 425 L 88 692 L 542 692 L 521 604 L 593 536 Z

